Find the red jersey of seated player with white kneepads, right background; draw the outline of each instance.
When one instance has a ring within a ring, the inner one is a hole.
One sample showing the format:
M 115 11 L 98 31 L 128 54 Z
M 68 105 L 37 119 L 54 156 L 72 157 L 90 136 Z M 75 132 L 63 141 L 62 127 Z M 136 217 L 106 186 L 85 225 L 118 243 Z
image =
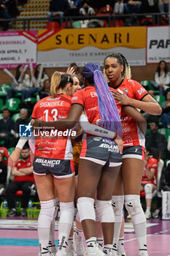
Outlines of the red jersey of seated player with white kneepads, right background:
M 158 160 L 150 157 L 148 162 L 147 162 L 147 168 L 150 169 L 155 169 L 155 176 L 152 178 L 152 180 L 148 180 L 147 174 L 146 174 L 146 169 L 144 167 L 143 173 L 142 173 L 142 184 L 156 184 L 156 178 L 157 178 L 157 172 L 158 172 Z

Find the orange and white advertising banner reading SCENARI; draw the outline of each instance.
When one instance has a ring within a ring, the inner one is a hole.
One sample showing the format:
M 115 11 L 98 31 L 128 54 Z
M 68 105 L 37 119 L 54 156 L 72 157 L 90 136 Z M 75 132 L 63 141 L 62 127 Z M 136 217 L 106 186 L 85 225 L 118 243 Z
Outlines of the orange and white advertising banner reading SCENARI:
M 38 31 L 37 62 L 44 67 L 67 67 L 76 62 L 103 65 L 112 52 L 125 55 L 131 66 L 146 64 L 146 27 L 58 29 Z

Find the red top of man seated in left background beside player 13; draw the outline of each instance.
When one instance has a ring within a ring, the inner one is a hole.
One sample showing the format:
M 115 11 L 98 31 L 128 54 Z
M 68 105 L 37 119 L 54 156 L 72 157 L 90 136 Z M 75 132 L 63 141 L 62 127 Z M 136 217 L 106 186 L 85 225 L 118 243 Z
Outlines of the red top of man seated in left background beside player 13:
M 22 168 L 31 167 L 31 165 L 31 159 L 29 157 L 26 161 L 23 161 L 23 159 L 18 160 L 15 167 L 17 168 L 17 170 L 19 170 Z M 14 181 L 32 181 L 35 183 L 33 173 L 31 173 L 30 175 L 15 176 Z

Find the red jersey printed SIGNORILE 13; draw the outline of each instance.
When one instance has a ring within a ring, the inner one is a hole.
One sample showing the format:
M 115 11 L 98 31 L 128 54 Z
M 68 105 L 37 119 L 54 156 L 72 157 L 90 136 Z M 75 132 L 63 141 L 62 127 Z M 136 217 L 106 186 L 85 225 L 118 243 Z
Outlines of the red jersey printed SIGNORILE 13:
M 66 118 L 71 108 L 71 100 L 72 97 L 65 94 L 58 94 L 55 98 L 51 96 L 45 97 L 34 106 L 32 118 L 41 119 L 42 121 L 56 121 Z M 36 138 L 35 157 L 73 159 L 69 131 L 64 132 L 50 129 L 48 132 L 50 132 L 50 135 L 45 137 L 41 133 Z M 55 134 L 55 132 L 58 133 Z

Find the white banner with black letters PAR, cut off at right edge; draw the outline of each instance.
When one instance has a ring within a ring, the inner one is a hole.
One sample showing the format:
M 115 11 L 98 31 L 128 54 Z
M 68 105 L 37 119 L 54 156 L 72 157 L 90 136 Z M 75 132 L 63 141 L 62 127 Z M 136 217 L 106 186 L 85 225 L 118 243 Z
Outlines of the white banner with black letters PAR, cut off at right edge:
M 170 26 L 147 27 L 147 63 L 170 62 Z

